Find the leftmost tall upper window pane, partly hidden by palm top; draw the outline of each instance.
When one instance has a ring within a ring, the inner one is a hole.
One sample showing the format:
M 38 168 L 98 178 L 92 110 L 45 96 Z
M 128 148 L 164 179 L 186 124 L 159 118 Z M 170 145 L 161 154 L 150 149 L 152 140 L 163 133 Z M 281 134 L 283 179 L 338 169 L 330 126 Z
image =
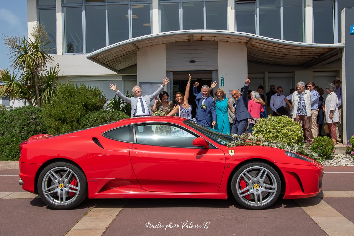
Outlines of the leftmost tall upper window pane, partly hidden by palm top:
M 47 31 L 51 42 L 47 44 L 48 53 L 57 53 L 57 30 L 56 30 L 56 10 L 55 9 L 40 9 L 39 10 L 39 23 L 43 24 L 44 29 Z

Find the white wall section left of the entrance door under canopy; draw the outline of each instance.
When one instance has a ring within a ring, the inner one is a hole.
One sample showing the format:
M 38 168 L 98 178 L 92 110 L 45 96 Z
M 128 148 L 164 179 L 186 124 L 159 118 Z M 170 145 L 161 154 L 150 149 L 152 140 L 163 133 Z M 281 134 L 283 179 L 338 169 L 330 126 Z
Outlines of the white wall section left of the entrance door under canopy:
M 137 51 L 137 83 L 166 78 L 166 45 L 143 47 Z

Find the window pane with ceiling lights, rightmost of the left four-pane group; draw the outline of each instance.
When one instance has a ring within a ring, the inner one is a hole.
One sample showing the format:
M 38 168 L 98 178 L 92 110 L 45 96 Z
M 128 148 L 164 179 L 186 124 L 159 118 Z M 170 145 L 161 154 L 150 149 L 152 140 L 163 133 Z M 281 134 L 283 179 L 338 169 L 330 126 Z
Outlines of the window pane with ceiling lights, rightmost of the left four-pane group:
M 132 5 L 133 38 L 151 34 L 150 5 Z

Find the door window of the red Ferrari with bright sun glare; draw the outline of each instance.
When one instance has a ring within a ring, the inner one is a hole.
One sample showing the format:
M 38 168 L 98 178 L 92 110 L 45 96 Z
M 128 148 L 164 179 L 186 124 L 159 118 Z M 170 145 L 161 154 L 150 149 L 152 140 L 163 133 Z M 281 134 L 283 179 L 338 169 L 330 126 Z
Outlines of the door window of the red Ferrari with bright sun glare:
M 150 124 L 135 126 L 136 141 L 139 144 L 152 146 L 168 146 L 178 148 L 196 148 L 193 140 L 197 138 L 192 133 L 178 126 L 165 124 Z

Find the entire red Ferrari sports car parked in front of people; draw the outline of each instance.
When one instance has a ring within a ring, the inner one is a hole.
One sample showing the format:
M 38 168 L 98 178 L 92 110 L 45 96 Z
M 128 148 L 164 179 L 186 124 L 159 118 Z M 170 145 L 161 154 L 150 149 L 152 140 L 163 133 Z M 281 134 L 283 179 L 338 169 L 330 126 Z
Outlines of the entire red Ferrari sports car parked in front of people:
M 20 145 L 19 184 L 55 209 L 89 198 L 215 198 L 250 209 L 312 197 L 323 166 L 265 146 L 227 148 L 231 136 L 167 116 L 125 119 Z

